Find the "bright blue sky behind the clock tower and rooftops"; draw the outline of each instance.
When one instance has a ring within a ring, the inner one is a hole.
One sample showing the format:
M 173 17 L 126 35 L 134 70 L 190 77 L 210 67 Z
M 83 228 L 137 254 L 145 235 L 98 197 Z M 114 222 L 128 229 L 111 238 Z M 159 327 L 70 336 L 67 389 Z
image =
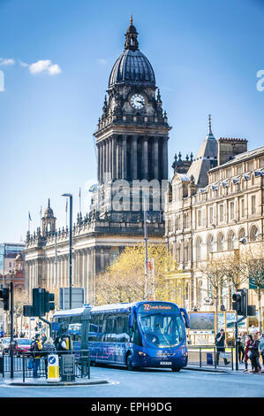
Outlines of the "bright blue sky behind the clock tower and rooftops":
M 170 166 L 197 152 L 208 113 L 215 138 L 264 144 L 262 0 L 1 0 L 0 241 L 24 240 L 48 198 L 63 226 L 60 195 L 73 193 L 75 217 L 79 187 L 87 212 L 93 133 L 131 12 L 173 127 Z

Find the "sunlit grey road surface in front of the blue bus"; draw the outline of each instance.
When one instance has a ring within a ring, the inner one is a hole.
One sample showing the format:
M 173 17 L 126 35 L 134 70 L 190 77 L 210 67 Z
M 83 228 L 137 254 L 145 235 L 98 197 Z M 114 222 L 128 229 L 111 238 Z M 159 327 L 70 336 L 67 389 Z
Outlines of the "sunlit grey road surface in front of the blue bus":
M 264 398 L 264 374 L 242 371 L 215 372 L 183 369 L 179 373 L 167 368 L 147 368 L 127 371 L 118 366 L 94 366 L 91 381 L 108 381 L 90 385 L 12 385 L 1 380 L 0 397 L 244 397 Z M 18 379 L 14 380 L 18 381 Z M 30 380 L 29 380 L 30 381 Z M 32 381 L 32 380 L 31 380 Z M 99 399 L 100 402 L 100 399 Z M 19 403 L 19 402 L 18 402 Z M 63 402 L 64 403 L 64 402 Z M 88 405 L 89 402 L 85 402 Z M 254 404 L 253 404 L 254 405 Z

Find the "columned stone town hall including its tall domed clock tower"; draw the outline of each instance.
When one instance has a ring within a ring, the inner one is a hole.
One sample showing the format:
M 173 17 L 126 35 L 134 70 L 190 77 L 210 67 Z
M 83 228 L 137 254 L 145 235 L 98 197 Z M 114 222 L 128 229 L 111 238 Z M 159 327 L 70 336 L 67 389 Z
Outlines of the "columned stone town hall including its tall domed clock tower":
M 155 182 L 160 204 L 154 204 L 151 189 L 148 242 L 164 243 L 162 186 L 168 181 L 169 131 L 154 70 L 139 50 L 138 33 L 131 19 L 124 52 L 110 73 L 102 116 L 94 133 L 98 184 L 89 212 L 85 216 L 79 213 L 73 226 L 72 282 L 74 287 L 87 289 L 87 302 L 91 304 L 95 301 L 96 274 L 103 272 L 125 246 L 143 242 L 142 195 L 149 191 L 149 182 Z M 118 199 L 120 189 L 125 189 L 126 197 L 116 206 L 113 201 Z M 29 295 L 35 287 L 68 286 L 69 229 L 57 229 L 50 204 L 42 228 L 26 236 L 25 271 Z

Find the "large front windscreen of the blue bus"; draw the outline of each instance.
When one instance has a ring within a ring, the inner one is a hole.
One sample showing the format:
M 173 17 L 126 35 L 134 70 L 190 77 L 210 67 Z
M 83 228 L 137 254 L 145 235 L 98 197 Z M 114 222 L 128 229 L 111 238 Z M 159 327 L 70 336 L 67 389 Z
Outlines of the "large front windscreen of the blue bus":
M 158 348 L 176 347 L 185 336 L 185 327 L 176 312 L 140 312 L 139 324 L 148 343 Z

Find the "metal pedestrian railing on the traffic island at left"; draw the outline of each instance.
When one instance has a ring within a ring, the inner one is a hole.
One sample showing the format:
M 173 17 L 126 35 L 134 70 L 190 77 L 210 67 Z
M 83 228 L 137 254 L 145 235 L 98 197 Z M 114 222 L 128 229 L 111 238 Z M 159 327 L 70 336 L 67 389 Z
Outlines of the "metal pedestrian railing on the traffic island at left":
M 13 358 L 13 373 L 16 376 L 22 376 L 23 382 L 27 378 L 34 377 L 34 362 L 40 360 L 37 363 L 37 377 L 48 377 L 48 357 L 49 355 L 57 354 L 60 361 L 60 374 L 62 372 L 62 356 L 66 354 L 73 354 L 75 356 L 74 363 L 74 376 L 76 378 L 88 377 L 90 379 L 90 352 L 88 350 L 79 351 L 50 351 L 35 353 L 23 353 L 19 357 Z M 11 374 L 11 356 L 10 354 L 3 354 L 0 358 L 0 370 L 3 377 L 10 376 Z

